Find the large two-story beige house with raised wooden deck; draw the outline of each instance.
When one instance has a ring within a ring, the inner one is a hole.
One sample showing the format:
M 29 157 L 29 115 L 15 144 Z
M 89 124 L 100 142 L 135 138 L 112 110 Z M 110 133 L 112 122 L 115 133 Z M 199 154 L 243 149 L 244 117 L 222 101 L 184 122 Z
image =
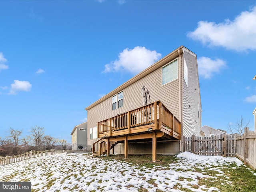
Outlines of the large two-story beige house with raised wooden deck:
M 142 87 L 151 104 L 143 106 Z M 178 154 L 183 135 L 201 136 L 201 97 L 196 54 L 180 46 L 86 108 L 88 145 L 109 155 Z M 157 145 L 157 147 L 156 147 Z M 115 150 L 116 151 L 116 150 Z

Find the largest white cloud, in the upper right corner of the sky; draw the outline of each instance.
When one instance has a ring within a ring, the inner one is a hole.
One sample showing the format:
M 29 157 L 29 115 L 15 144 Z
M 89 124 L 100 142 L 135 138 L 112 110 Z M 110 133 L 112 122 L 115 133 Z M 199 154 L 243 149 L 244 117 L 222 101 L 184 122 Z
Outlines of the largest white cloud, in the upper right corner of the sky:
M 236 51 L 256 50 L 256 6 L 244 11 L 233 21 L 229 19 L 216 24 L 200 21 L 188 37 L 209 46 L 222 46 Z

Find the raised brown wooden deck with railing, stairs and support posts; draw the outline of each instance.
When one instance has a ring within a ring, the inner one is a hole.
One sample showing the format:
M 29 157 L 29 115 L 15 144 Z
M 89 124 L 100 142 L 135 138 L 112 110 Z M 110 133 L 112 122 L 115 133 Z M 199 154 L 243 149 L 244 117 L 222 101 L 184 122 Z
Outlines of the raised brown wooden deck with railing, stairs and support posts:
M 152 140 L 155 145 L 156 140 L 180 140 L 180 129 L 179 120 L 157 101 L 98 122 L 100 140 L 93 144 L 93 154 L 109 155 L 110 148 L 122 141 L 127 157 L 128 140 Z M 154 156 L 154 150 L 152 153 Z

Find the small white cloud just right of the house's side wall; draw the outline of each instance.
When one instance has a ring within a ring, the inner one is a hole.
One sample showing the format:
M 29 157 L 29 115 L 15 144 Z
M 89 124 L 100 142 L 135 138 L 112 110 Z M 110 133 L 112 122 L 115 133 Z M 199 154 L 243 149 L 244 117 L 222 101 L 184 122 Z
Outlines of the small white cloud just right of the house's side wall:
M 206 79 L 212 78 L 214 73 L 219 73 L 221 69 L 227 67 L 226 61 L 216 58 L 212 60 L 208 57 L 200 57 L 198 62 L 198 73 Z

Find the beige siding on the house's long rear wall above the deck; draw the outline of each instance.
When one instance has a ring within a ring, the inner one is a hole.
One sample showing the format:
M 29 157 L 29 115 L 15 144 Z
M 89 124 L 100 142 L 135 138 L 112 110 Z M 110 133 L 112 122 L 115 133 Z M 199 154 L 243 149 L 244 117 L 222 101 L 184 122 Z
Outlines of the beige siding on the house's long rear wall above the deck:
M 167 62 L 164 63 L 162 66 L 164 66 L 165 64 L 167 64 Z M 176 118 L 180 119 L 179 79 L 176 79 L 162 86 L 162 66 L 123 89 L 124 106 L 122 106 L 121 108 L 112 110 L 112 96 L 114 96 L 114 94 L 117 94 L 118 92 L 114 93 L 98 105 L 90 108 L 88 110 L 88 130 L 90 130 L 90 128 L 92 127 L 97 126 L 97 122 L 116 116 L 117 114 L 121 114 L 129 110 L 141 107 L 142 85 L 145 85 L 148 89 L 151 102 L 160 100 L 164 104 L 164 106 L 166 106 L 170 110 L 170 112 L 172 112 L 174 116 L 176 116 Z M 96 142 L 97 140 L 98 139 L 88 139 L 88 145 L 92 145 L 92 143 Z

